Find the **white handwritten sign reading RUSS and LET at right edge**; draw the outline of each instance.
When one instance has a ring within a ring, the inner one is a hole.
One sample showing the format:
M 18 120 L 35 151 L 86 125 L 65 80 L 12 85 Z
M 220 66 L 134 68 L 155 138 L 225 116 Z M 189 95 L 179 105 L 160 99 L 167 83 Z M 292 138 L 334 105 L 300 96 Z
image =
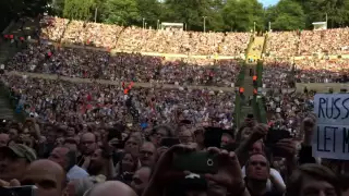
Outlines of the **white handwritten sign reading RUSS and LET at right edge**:
M 349 94 L 316 94 L 313 156 L 349 160 Z

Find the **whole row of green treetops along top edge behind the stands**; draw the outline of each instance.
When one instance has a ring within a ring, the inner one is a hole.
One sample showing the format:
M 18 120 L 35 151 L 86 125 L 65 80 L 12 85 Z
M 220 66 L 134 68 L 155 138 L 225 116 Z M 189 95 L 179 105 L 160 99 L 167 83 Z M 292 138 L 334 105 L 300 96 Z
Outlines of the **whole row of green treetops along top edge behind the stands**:
M 349 24 L 349 0 L 280 0 L 263 8 L 257 0 L 9 0 L 0 1 L 3 21 L 17 13 L 36 14 L 50 4 L 52 15 L 123 26 L 157 27 L 158 22 L 184 23 L 188 30 L 249 32 L 312 28 L 328 19 L 328 27 Z M 49 1 L 49 2 L 48 2 Z M 47 8 L 47 7 L 46 7 Z

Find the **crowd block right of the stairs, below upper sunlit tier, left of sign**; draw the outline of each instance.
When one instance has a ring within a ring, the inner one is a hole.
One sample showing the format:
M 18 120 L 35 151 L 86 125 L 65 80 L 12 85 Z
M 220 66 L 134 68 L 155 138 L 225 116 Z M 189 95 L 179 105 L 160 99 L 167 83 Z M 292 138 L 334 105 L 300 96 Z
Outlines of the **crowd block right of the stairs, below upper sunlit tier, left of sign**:
M 303 59 L 290 62 L 266 59 L 263 91 L 267 119 L 299 134 L 300 120 L 313 110 L 315 91 L 298 89 L 296 83 L 348 83 L 348 60 Z M 302 93 L 299 93 L 302 91 Z

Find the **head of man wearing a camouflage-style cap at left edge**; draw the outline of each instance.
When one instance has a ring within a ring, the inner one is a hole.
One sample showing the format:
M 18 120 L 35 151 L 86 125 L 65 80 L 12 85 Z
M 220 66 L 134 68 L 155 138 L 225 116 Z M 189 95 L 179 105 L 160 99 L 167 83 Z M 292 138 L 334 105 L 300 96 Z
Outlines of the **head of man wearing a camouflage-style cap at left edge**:
M 0 176 L 3 181 L 21 179 L 27 166 L 36 160 L 34 149 L 22 145 L 11 144 L 0 147 Z

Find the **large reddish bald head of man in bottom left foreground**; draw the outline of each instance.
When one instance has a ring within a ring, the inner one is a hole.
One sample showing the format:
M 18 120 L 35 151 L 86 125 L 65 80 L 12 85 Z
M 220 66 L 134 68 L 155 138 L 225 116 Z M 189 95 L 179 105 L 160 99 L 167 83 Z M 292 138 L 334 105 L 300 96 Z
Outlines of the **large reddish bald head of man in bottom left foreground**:
M 49 182 L 49 186 L 47 182 Z M 53 161 L 37 160 L 28 166 L 21 183 L 36 185 L 38 187 L 37 196 L 61 196 L 65 185 L 65 172 L 61 166 Z

